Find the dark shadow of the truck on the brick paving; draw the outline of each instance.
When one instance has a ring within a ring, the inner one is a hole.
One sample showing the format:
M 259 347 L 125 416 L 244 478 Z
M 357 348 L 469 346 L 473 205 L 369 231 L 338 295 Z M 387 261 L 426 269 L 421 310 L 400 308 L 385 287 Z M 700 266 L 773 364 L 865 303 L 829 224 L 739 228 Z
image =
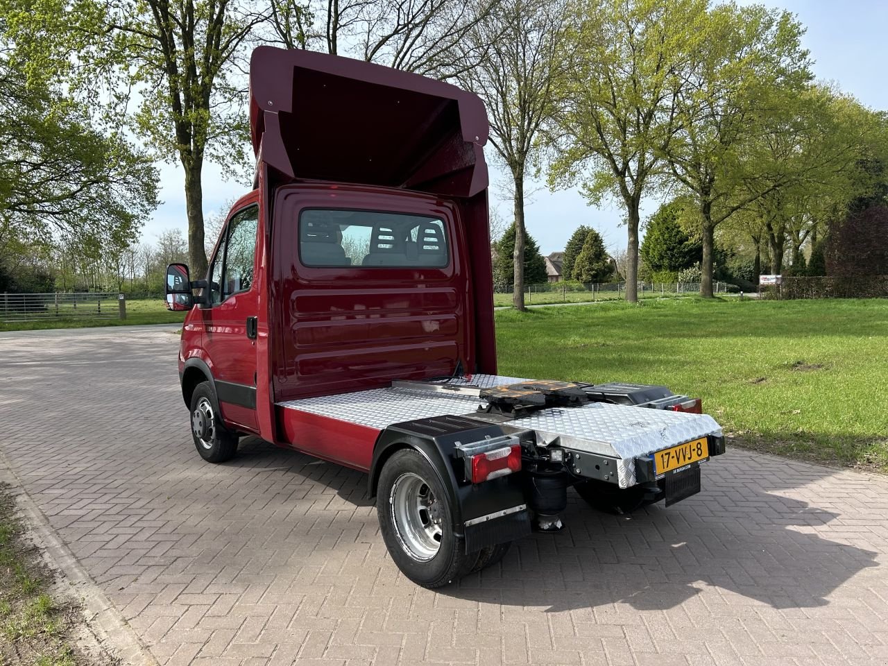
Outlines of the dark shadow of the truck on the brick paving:
M 714 586 L 725 605 L 825 606 L 836 588 L 876 566 L 876 552 L 818 535 L 837 514 L 780 494 L 835 472 L 806 465 L 799 476 L 787 467 L 784 481 L 744 469 L 755 460 L 741 454 L 725 461 L 730 468 L 713 463 L 700 495 L 630 516 L 593 511 L 570 491 L 564 530 L 513 543 L 501 564 L 438 592 L 551 612 L 620 603 L 667 610 Z M 373 504 L 365 474 L 253 438 L 228 465 L 285 470 L 355 506 Z

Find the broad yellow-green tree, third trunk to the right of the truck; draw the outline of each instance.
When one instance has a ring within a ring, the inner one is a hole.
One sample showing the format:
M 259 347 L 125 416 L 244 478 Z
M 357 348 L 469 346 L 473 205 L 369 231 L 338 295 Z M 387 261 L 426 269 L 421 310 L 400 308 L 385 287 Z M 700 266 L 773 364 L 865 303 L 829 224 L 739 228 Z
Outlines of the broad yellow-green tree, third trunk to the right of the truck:
M 694 195 L 702 236 L 703 297 L 712 297 L 714 233 L 734 212 L 783 181 L 762 178 L 747 151 L 774 112 L 811 79 L 804 28 L 789 12 L 724 4 L 697 30 L 694 57 L 676 99 L 676 134 L 666 150 L 673 178 Z

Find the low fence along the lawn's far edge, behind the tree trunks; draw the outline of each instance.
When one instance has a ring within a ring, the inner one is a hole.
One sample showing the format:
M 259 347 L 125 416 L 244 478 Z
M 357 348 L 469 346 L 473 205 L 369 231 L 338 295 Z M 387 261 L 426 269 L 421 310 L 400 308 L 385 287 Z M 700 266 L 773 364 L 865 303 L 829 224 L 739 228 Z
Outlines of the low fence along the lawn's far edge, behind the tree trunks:
M 717 294 L 736 292 L 739 289 L 726 282 L 713 282 Z M 497 305 L 506 305 L 503 297 L 511 296 L 511 285 L 495 285 L 494 299 Z M 543 282 L 524 287 L 525 303 L 583 303 L 626 297 L 625 282 L 581 284 L 579 282 Z M 639 298 L 666 298 L 700 293 L 700 282 L 638 282 Z M 511 299 L 509 300 L 511 303 Z

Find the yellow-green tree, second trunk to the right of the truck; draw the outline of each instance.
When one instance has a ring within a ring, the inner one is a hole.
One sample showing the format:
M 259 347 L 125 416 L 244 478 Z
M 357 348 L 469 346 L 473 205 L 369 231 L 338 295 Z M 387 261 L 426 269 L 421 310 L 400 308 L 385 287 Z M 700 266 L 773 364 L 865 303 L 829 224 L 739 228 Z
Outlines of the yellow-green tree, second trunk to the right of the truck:
M 629 301 L 638 298 L 641 202 L 662 174 L 684 83 L 678 73 L 705 9 L 705 0 L 578 0 L 571 12 L 550 184 L 579 180 L 591 203 L 605 196 L 622 202 Z

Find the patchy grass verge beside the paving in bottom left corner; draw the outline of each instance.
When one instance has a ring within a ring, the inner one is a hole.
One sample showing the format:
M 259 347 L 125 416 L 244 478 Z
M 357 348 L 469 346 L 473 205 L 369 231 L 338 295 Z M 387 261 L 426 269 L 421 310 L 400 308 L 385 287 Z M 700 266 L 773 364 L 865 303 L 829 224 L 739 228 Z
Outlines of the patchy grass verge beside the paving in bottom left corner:
M 48 592 L 50 576 L 0 486 L 0 663 L 75 666 L 68 633 L 77 611 Z

